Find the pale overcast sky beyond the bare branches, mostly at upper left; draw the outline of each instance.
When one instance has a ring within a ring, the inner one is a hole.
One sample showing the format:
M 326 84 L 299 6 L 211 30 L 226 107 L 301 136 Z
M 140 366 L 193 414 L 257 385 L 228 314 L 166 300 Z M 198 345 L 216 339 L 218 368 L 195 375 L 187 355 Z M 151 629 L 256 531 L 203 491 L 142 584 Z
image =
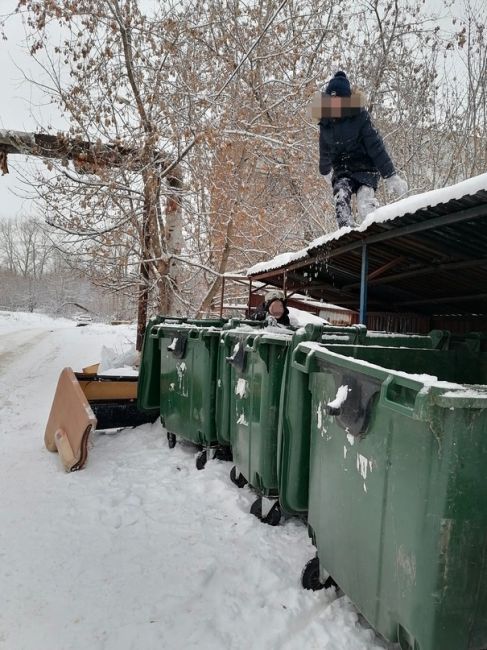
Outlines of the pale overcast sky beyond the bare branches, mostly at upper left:
M 154 0 L 152 0 L 154 1 Z M 150 3 L 151 0 L 143 0 Z M 441 0 L 430 0 L 428 8 L 433 9 Z M 17 0 L 0 0 L 0 16 L 13 11 Z M 462 0 L 455 0 L 459 7 Z M 451 28 L 448 20 L 442 21 L 443 29 Z M 2 102 L 0 110 L 0 129 L 17 131 L 36 131 L 46 129 L 62 130 L 65 123 L 55 107 L 43 101 L 39 91 L 25 77 L 39 78 L 36 64 L 29 57 L 24 46 L 24 27 L 20 16 L 9 18 L 6 28 L 7 41 L 0 40 L 0 71 L 2 79 Z M 21 174 L 28 168 L 41 166 L 40 161 L 25 156 L 9 157 L 10 174 L 0 176 L 0 219 L 34 215 L 35 207 L 29 199 L 16 194 L 26 193 L 21 183 Z

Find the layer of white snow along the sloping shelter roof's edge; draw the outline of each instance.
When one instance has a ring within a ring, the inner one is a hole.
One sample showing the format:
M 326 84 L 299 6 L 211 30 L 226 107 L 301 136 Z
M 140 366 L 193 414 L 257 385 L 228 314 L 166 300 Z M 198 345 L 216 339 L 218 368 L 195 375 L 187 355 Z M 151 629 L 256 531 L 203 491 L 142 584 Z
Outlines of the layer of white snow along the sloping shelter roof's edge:
M 401 199 L 400 201 L 384 205 L 381 208 L 374 210 L 374 212 L 371 212 L 364 219 L 363 223 L 353 230 L 364 232 L 374 223 L 384 223 L 385 221 L 403 217 L 405 214 L 413 214 L 418 210 L 432 208 L 441 203 L 448 203 L 448 201 L 454 199 L 461 199 L 464 196 L 472 196 L 481 190 L 487 191 L 487 174 L 480 174 L 479 176 L 468 178 L 467 180 L 462 181 L 461 183 L 456 183 L 455 185 L 442 187 L 438 190 L 431 190 L 430 192 L 423 192 L 422 194 L 415 194 L 413 196 L 408 196 L 405 199 Z M 319 248 L 329 241 L 339 239 L 342 235 L 351 231 L 352 228 L 345 227 L 332 233 L 322 235 L 312 241 L 306 248 L 302 248 L 295 252 L 281 253 L 271 260 L 254 264 L 254 266 L 251 266 L 247 270 L 247 275 L 257 275 L 259 273 L 265 273 L 266 271 L 272 271 L 274 269 L 288 266 L 293 262 L 299 262 L 306 259 L 309 251 L 312 249 Z

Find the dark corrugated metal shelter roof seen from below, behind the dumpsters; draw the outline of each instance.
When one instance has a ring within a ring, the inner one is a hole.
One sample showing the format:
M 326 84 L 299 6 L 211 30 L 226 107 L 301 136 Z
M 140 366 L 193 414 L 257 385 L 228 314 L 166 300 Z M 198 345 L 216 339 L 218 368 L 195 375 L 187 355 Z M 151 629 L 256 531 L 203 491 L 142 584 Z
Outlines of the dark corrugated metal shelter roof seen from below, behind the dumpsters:
M 370 311 L 487 314 L 487 189 L 347 229 L 248 274 L 350 309 L 360 307 L 363 276 Z

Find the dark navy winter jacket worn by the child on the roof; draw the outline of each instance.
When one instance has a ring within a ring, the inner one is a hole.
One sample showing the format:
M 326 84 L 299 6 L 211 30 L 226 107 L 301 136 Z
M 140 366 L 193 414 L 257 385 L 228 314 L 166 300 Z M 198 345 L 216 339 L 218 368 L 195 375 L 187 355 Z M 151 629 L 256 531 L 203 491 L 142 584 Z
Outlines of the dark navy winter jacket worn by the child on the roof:
M 389 178 L 396 173 L 384 142 L 363 107 L 349 109 L 347 117 L 322 118 L 319 125 L 320 173 L 326 176 L 333 168 L 333 182 L 347 177 L 377 189 L 379 174 Z

